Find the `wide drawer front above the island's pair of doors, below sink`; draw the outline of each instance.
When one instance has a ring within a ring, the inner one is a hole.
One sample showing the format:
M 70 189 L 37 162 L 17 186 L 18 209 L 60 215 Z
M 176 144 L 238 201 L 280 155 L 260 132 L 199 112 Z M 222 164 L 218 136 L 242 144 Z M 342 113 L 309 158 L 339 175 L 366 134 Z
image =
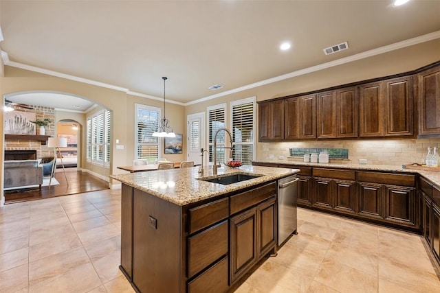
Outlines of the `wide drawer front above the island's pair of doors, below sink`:
M 270 183 L 230 197 L 230 214 L 234 214 L 254 204 L 276 195 L 276 183 Z

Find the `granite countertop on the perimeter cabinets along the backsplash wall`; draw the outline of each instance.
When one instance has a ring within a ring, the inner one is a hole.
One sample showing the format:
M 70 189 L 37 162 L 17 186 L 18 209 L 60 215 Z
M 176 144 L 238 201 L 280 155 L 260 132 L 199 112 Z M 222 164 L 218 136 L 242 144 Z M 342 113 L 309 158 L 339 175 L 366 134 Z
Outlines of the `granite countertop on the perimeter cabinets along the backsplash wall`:
M 434 185 L 440 187 L 440 172 L 416 170 L 416 169 L 404 169 L 400 166 L 393 165 L 369 165 L 369 164 L 338 164 L 338 163 L 306 163 L 302 161 L 254 161 L 256 163 L 272 163 L 272 164 L 284 164 L 284 165 L 296 165 L 296 166 L 310 166 L 310 167 L 327 167 L 336 169 L 358 169 L 366 171 L 390 171 L 401 173 L 420 174 Z

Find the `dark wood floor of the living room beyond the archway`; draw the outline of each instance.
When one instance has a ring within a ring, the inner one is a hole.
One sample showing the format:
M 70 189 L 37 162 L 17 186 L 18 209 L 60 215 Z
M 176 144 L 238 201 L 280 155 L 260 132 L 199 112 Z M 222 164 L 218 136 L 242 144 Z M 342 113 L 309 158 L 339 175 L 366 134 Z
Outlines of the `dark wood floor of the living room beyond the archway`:
M 55 173 L 55 178 L 60 185 L 53 185 L 50 189 L 47 186 L 43 186 L 41 190 L 36 188 L 4 191 L 5 204 L 109 189 L 109 183 L 107 181 L 90 175 L 87 172 L 77 171 L 76 168 L 66 168 L 65 170 L 69 185 L 67 185 L 63 171 L 58 169 Z

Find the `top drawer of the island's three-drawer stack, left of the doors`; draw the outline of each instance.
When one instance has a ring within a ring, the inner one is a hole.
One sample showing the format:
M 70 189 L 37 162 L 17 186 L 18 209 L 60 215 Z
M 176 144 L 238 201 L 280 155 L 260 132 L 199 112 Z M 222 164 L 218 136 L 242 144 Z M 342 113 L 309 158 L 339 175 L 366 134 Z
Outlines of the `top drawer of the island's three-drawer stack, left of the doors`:
M 222 200 L 216 200 L 190 209 L 189 215 L 189 233 L 194 233 L 215 222 L 228 218 L 229 198 L 223 198 Z

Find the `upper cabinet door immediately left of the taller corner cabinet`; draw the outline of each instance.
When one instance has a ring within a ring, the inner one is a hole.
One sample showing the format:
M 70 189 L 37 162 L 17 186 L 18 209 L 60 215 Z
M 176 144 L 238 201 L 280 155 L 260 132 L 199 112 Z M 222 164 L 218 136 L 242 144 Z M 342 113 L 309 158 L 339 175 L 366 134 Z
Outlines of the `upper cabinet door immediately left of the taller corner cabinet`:
M 385 136 L 412 135 L 412 76 L 385 81 Z

